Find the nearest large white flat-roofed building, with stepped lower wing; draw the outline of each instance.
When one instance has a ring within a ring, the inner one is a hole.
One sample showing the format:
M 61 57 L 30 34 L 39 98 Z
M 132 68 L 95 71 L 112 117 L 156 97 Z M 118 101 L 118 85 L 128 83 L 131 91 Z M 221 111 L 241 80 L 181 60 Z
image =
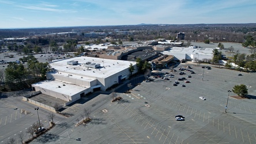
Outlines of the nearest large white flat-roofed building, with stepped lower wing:
M 136 62 L 91 57 L 76 57 L 50 63 L 52 71 L 47 80 L 32 84 L 32 88 L 52 97 L 67 101 L 67 104 L 94 90 L 106 90 L 129 77 L 129 66 Z

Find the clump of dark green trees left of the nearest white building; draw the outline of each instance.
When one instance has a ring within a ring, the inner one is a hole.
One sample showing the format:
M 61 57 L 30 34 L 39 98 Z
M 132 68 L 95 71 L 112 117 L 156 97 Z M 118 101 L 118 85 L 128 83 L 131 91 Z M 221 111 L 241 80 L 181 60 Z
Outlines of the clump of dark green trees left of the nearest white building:
M 27 61 L 27 65 L 21 62 L 10 62 L 5 70 L 0 70 L 1 90 L 19 90 L 31 87 L 31 84 L 46 79 L 46 73 L 51 66 L 46 62 L 39 62 L 35 56 L 24 56 L 21 61 Z

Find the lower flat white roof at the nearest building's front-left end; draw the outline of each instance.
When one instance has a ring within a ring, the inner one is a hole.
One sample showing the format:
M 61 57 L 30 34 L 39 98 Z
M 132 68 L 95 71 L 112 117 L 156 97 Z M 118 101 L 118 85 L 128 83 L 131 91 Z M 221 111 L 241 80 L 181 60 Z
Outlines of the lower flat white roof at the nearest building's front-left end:
M 63 86 L 65 84 L 65 86 Z M 47 89 L 52 92 L 62 93 L 66 94 L 68 96 L 73 96 L 82 90 L 89 89 L 85 88 L 84 86 L 74 85 L 68 82 L 58 81 L 58 80 L 46 80 L 46 81 L 40 81 L 35 84 L 32 84 L 32 86 L 35 85 L 42 89 Z M 59 86 L 61 88 L 59 88 Z

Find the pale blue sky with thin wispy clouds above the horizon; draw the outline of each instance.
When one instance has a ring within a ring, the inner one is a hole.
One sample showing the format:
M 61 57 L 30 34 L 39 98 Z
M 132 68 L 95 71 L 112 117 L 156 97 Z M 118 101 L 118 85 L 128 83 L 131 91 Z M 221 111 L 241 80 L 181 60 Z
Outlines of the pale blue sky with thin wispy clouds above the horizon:
M 256 0 L 0 0 L 0 28 L 256 23 Z

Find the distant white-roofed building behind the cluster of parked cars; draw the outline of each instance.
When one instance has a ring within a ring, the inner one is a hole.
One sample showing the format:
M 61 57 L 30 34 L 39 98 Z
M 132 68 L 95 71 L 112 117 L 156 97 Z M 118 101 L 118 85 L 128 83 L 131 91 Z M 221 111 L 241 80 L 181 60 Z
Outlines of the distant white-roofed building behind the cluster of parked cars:
M 194 62 L 194 59 L 198 60 L 212 59 L 213 48 L 198 48 L 195 46 L 190 47 L 172 47 L 168 51 L 163 51 L 164 55 L 174 55 L 179 60 L 190 60 Z

